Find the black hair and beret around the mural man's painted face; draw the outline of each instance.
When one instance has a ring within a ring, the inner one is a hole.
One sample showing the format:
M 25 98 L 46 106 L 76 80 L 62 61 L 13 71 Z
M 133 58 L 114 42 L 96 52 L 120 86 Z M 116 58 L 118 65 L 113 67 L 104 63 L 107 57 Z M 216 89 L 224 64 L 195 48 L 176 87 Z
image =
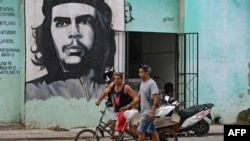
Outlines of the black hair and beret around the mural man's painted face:
M 91 80 L 97 83 L 105 83 L 103 80 L 103 73 L 105 70 L 109 70 L 114 66 L 114 55 L 116 52 L 114 30 L 111 28 L 112 24 L 112 10 L 104 2 L 104 0 L 44 0 L 43 2 L 43 23 L 33 29 L 33 37 L 35 38 L 36 47 L 31 47 L 31 52 L 34 53 L 35 58 L 32 59 L 32 63 L 35 66 L 40 66 L 40 70 L 47 69 L 48 74 L 58 75 L 63 72 L 63 68 L 60 65 L 55 45 L 53 43 L 51 35 L 51 18 L 53 5 L 62 2 L 78 2 L 86 3 L 94 1 L 96 3 L 97 16 L 93 23 L 95 31 L 95 40 L 93 48 L 91 49 L 91 55 L 87 56 L 88 61 L 84 67 L 76 67 L 79 69 L 79 74 L 87 74 L 90 69 L 93 69 L 95 75 Z M 58 2 L 58 3 L 56 3 Z M 87 60 L 86 59 L 86 60 Z M 79 75 L 75 74 L 75 75 Z

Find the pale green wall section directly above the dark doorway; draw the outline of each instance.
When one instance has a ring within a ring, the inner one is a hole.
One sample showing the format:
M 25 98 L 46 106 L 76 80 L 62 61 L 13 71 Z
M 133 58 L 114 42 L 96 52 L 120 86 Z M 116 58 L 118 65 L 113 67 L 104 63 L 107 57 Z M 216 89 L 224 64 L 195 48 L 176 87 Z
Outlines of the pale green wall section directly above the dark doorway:
M 178 32 L 178 0 L 125 0 L 131 5 L 131 22 L 126 31 Z M 126 3 L 125 3 L 125 16 Z

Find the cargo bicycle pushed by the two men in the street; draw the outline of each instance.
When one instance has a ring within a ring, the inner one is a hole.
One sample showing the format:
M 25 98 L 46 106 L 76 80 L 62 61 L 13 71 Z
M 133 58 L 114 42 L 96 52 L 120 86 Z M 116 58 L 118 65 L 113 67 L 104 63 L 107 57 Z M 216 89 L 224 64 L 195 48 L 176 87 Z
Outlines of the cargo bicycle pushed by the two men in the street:
M 107 125 L 103 121 L 103 117 L 106 113 L 106 109 L 107 109 L 107 106 L 105 106 L 103 111 L 99 110 L 102 115 L 95 129 L 89 129 L 89 128 L 82 129 L 76 134 L 74 141 L 99 141 L 100 140 L 99 134 L 101 134 L 100 130 L 103 130 L 104 132 L 108 133 L 110 137 L 112 137 L 113 141 L 137 140 L 138 139 L 137 137 L 138 134 L 133 132 L 134 130 L 133 130 L 133 125 L 131 124 L 131 121 L 126 122 L 122 131 L 118 131 L 116 129 L 113 129 L 110 125 Z M 108 127 L 109 129 L 105 127 Z M 118 136 L 113 136 L 110 132 L 111 130 L 115 130 L 115 132 L 119 132 L 120 134 Z M 157 128 L 157 132 L 159 134 L 160 140 L 162 141 L 178 141 L 175 131 L 172 130 L 171 128 L 168 128 L 168 125 Z M 125 139 L 125 134 L 129 135 L 130 138 Z M 151 136 L 148 133 L 146 133 L 145 139 L 150 141 Z

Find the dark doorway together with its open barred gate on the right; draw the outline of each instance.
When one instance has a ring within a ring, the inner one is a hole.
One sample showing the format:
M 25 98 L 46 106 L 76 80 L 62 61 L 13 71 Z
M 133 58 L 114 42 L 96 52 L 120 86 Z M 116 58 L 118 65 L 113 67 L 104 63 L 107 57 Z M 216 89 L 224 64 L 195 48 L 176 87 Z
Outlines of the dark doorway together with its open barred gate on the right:
M 160 90 L 174 84 L 175 97 L 184 107 L 198 104 L 198 33 L 126 32 L 126 82 L 137 92 L 138 67 L 152 67 Z

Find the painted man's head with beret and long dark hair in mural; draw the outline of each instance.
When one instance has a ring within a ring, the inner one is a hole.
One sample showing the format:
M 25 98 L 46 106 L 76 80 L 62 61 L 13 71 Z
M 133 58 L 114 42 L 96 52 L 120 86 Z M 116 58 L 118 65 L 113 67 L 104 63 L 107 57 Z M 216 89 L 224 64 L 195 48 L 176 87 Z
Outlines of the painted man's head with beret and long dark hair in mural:
M 43 23 L 35 28 L 35 65 L 49 74 L 73 72 L 104 83 L 102 75 L 114 64 L 112 12 L 104 0 L 44 0 Z

